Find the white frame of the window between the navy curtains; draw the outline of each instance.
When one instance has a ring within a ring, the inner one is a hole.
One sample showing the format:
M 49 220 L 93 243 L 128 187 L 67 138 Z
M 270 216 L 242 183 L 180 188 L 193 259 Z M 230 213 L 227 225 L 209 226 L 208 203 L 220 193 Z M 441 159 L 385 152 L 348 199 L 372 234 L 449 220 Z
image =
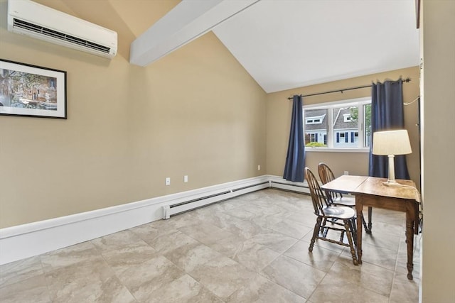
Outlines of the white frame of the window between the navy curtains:
M 327 136 L 327 147 L 315 147 L 315 146 L 305 146 L 305 151 L 309 152 L 336 152 L 336 153 L 370 153 L 369 147 L 361 147 L 361 148 L 340 148 L 334 147 L 333 141 L 335 140 L 336 133 L 333 131 L 333 109 L 338 107 L 348 107 L 348 106 L 358 106 L 358 130 L 354 132 L 358 132 L 358 143 L 364 145 L 365 142 L 365 113 L 364 107 L 365 104 L 371 104 L 371 97 L 361 97 L 355 99 L 345 99 L 340 101 L 332 101 L 332 102 L 324 102 L 319 104 L 308 104 L 303 106 L 303 120 L 305 119 L 305 111 L 311 109 L 327 109 L 326 119 L 328 119 L 328 130 L 326 133 Z M 305 133 L 305 125 L 304 123 L 304 133 Z M 349 142 L 350 142 L 350 132 L 348 133 Z

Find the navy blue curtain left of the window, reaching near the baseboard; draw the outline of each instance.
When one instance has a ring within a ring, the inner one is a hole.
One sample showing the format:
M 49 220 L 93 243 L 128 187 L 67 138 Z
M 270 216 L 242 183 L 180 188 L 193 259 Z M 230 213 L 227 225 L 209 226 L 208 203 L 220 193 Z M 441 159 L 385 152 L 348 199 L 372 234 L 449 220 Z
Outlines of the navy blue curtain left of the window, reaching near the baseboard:
M 283 178 L 294 182 L 304 182 L 305 141 L 304 116 L 301 96 L 294 96 L 292 104 L 291 131 L 287 147 Z

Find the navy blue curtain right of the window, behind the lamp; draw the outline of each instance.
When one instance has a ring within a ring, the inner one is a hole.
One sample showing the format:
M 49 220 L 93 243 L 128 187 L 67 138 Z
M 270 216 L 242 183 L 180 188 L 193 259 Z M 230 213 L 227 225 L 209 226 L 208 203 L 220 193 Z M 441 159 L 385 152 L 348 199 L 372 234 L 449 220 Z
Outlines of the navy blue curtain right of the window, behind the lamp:
M 405 128 L 405 115 L 403 110 L 403 83 L 398 81 L 385 81 L 373 84 L 371 89 L 371 140 L 375 131 L 392 131 Z M 373 155 L 373 144 L 370 142 L 370 167 L 369 175 L 372 177 L 387 178 L 389 165 L 386 155 Z M 395 177 L 397 179 L 410 179 L 407 171 L 406 156 L 395 156 Z

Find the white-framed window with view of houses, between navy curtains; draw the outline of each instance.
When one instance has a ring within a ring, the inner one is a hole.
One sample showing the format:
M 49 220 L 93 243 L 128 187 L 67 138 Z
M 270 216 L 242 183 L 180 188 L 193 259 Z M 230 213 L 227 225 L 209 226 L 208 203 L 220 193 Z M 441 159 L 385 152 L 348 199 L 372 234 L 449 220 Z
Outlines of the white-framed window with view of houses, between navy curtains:
M 304 106 L 305 145 L 321 150 L 370 147 L 371 99 Z

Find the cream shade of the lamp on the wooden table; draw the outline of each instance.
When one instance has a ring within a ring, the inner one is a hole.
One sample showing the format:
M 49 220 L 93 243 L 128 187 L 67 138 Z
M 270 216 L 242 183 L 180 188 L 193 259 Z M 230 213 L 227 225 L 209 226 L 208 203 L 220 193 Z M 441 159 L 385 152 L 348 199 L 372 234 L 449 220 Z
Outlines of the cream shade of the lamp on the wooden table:
M 407 155 L 412 153 L 407 130 L 373 133 L 373 155 Z

